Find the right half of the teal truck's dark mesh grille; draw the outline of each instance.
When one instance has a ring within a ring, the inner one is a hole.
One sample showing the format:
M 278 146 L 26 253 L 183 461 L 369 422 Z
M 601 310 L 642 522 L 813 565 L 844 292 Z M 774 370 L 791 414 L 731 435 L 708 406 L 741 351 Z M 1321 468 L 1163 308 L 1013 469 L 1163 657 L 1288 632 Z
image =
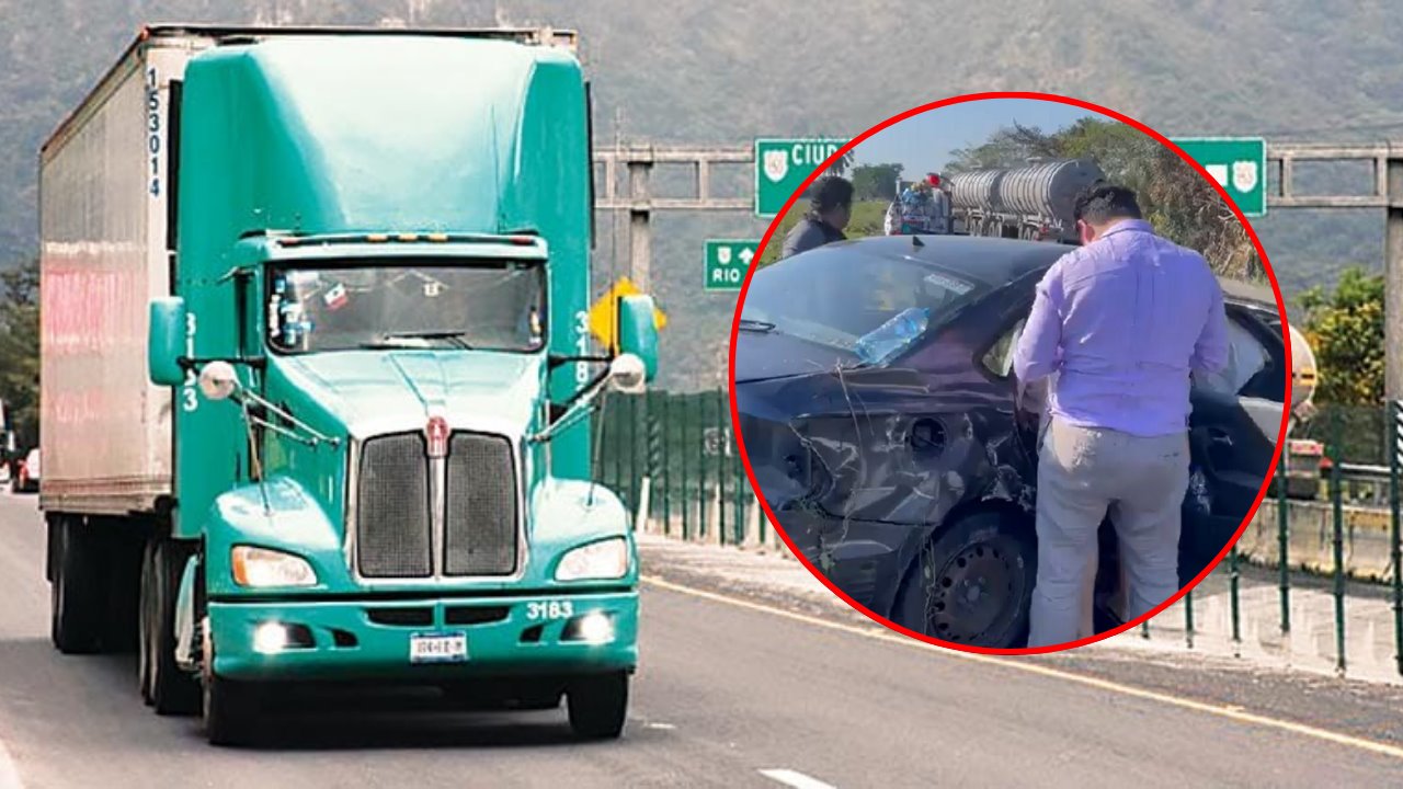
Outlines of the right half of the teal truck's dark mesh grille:
M 456 432 L 449 442 L 443 517 L 448 576 L 516 570 L 516 463 L 499 435 Z

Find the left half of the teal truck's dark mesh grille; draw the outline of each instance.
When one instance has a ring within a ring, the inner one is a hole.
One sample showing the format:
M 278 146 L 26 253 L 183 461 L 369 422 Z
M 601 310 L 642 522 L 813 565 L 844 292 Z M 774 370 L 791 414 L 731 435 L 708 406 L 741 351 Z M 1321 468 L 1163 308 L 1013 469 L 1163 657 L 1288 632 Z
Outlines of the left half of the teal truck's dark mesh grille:
M 408 432 L 365 442 L 356 497 L 356 555 L 368 578 L 434 573 L 429 473 L 424 437 Z

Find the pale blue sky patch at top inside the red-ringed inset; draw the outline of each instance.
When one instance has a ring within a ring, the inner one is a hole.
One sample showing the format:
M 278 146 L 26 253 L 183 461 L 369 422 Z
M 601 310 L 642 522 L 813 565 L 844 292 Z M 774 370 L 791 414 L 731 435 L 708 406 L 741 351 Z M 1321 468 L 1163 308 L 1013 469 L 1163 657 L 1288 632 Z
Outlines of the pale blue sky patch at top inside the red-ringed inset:
M 1055 132 L 1080 118 L 1106 118 L 1100 112 L 1037 98 L 986 98 L 929 110 L 867 138 L 854 149 L 857 164 L 899 161 L 904 178 L 940 173 L 950 152 L 979 145 L 1013 121 Z

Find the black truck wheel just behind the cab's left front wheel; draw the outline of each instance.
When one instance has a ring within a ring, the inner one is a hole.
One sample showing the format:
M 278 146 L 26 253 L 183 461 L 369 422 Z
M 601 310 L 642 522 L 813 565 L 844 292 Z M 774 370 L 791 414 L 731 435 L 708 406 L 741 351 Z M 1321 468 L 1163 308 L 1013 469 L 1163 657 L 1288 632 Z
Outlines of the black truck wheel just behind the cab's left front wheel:
M 137 671 L 143 698 L 156 715 L 199 712 L 199 681 L 175 664 L 175 601 L 191 548 L 184 542 L 152 541 L 142 563 L 140 650 Z

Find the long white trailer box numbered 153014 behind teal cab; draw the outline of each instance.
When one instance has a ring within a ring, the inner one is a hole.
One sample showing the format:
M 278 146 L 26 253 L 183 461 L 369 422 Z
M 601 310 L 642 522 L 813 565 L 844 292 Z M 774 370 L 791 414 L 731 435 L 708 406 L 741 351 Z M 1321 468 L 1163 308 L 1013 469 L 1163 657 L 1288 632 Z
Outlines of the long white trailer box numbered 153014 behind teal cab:
M 143 31 L 41 149 L 45 510 L 150 511 L 171 491 L 171 396 L 147 380 L 147 303 L 170 292 L 174 256 L 171 84 L 212 42 Z

